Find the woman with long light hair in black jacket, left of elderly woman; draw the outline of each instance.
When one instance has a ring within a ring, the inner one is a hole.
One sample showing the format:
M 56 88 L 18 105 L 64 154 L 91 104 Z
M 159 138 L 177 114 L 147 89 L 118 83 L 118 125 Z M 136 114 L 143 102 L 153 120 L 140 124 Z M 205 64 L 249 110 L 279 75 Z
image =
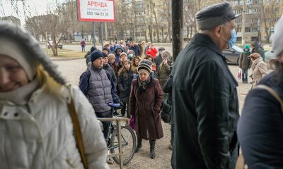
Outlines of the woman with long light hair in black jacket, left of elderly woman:
M 134 74 L 132 71 L 131 62 L 126 60 L 123 62 L 123 66 L 119 71 L 119 77 L 118 77 L 120 100 L 124 104 L 124 106 L 121 109 L 122 115 L 125 115 L 126 108 L 129 105 L 128 104 L 129 103 L 129 93 L 131 92 L 131 84 L 132 84 L 133 78 L 134 78 Z M 129 108 L 127 108 L 127 118 L 130 118 Z

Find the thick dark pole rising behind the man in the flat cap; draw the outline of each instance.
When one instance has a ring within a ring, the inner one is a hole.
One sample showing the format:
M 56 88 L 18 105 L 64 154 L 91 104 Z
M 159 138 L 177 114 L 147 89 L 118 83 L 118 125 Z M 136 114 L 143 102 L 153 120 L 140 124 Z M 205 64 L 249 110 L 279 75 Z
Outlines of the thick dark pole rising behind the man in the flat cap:
M 183 0 L 172 0 L 172 46 L 175 61 L 183 46 Z

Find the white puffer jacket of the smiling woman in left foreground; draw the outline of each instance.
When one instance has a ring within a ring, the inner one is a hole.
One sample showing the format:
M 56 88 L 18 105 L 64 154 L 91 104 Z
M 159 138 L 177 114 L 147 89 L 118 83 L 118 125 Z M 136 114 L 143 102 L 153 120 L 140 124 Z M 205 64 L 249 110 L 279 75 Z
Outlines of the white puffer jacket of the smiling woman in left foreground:
M 79 118 L 89 168 L 109 168 L 107 148 L 91 104 L 78 88 L 60 96 L 33 92 L 27 106 L 0 100 L 1 168 L 83 168 L 67 103 L 70 91 Z

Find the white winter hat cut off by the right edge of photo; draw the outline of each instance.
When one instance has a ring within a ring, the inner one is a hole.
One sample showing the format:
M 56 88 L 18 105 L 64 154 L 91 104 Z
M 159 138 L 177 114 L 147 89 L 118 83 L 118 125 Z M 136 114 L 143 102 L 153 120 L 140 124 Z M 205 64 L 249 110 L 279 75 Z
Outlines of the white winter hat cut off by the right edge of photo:
M 278 56 L 283 51 L 283 15 L 275 25 L 275 33 L 271 35 L 272 49 L 275 52 L 275 56 Z

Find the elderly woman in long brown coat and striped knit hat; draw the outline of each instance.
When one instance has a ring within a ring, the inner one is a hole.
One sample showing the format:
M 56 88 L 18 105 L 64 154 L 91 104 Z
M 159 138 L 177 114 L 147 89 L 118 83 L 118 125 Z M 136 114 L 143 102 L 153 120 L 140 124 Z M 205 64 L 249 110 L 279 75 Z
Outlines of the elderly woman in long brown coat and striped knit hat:
M 163 137 L 161 125 L 161 105 L 163 92 L 158 80 L 150 76 L 151 67 L 140 63 L 137 68 L 139 77 L 132 81 L 129 96 L 129 113 L 136 118 L 137 148 L 141 148 L 141 140 L 149 140 L 150 157 L 155 158 L 156 139 Z

